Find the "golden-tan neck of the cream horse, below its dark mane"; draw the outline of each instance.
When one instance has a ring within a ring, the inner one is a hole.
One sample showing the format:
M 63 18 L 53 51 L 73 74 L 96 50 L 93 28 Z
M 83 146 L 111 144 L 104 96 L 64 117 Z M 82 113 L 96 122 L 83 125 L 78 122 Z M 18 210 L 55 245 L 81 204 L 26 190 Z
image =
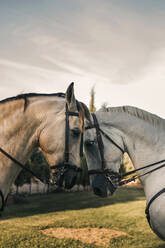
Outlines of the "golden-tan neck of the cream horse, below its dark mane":
M 0 147 L 22 163 L 27 161 L 38 145 L 50 105 L 45 100 L 39 102 L 39 97 L 29 101 L 26 111 L 23 100 L 0 104 Z M 18 165 L 0 153 L 0 189 L 5 197 L 20 170 Z

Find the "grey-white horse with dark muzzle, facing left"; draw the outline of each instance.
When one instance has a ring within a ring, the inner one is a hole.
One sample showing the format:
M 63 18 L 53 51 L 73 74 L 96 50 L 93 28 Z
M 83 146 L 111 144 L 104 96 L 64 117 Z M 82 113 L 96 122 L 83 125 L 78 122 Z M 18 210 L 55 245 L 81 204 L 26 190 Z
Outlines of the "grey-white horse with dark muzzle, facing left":
M 102 108 L 86 129 L 84 147 L 94 193 L 107 196 L 107 189 L 111 194 L 116 190 L 127 152 L 144 187 L 149 224 L 165 240 L 165 120 L 130 106 Z

